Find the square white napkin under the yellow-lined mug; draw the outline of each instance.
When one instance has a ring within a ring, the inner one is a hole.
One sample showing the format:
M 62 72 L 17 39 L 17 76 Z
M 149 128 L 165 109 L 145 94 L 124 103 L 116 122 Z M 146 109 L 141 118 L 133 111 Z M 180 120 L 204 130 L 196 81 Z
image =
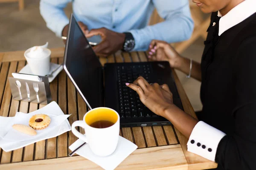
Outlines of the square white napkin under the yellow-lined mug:
M 84 141 L 78 139 L 74 142 L 69 148 L 70 150 L 75 150 Z M 96 156 L 91 150 L 88 144 L 85 144 L 81 149 L 79 149 L 76 153 L 80 156 L 83 156 L 90 161 L 98 164 L 105 170 L 113 170 L 115 169 L 125 158 L 127 158 L 134 150 L 137 149 L 137 145 L 132 143 L 131 141 L 119 136 L 118 144 L 114 153 L 110 156 Z

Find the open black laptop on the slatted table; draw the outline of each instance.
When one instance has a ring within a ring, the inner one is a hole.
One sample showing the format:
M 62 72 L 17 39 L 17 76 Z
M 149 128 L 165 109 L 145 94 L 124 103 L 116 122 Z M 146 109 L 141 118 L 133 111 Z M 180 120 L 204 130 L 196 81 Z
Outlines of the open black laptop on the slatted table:
M 149 83 L 169 85 L 174 104 L 183 110 L 169 62 L 106 63 L 101 65 L 73 14 L 70 16 L 64 70 L 88 108 L 108 107 L 119 113 L 120 127 L 171 125 L 143 105 L 125 83 L 143 76 Z

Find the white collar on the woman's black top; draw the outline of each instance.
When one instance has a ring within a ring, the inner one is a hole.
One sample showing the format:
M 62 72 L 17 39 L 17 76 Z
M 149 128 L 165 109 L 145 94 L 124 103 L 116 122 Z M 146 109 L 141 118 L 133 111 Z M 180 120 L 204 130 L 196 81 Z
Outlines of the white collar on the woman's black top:
M 241 23 L 255 12 L 256 0 L 244 0 L 242 3 L 231 9 L 223 17 L 221 17 L 221 13 L 218 12 L 218 16 L 221 17 L 218 35 L 221 36 L 222 33 Z

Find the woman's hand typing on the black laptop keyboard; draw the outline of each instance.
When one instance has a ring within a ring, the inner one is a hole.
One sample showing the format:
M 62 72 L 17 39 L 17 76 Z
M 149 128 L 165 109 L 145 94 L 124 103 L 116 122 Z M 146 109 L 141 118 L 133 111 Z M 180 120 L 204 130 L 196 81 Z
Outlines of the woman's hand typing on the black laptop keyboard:
M 141 102 L 159 116 L 165 117 L 165 111 L 174 105 L 172 92 L 166 84 L 148 84 L 143 77 L 138 77 L 133 83 L 126 85 L 136 91 Z

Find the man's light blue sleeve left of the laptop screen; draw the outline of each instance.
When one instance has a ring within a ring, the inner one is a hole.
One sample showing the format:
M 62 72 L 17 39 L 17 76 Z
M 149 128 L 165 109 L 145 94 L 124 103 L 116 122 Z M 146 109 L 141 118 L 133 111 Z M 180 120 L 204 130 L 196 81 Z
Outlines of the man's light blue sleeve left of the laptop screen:
M 44 18 L 47 27 L 55 32 L 58 37 L 61 37 L 63 28 L 69 23 L 69 20 L 63 10 L 69 2 L 71 2 L 71 0 L 40 1 L 40 13 Z

